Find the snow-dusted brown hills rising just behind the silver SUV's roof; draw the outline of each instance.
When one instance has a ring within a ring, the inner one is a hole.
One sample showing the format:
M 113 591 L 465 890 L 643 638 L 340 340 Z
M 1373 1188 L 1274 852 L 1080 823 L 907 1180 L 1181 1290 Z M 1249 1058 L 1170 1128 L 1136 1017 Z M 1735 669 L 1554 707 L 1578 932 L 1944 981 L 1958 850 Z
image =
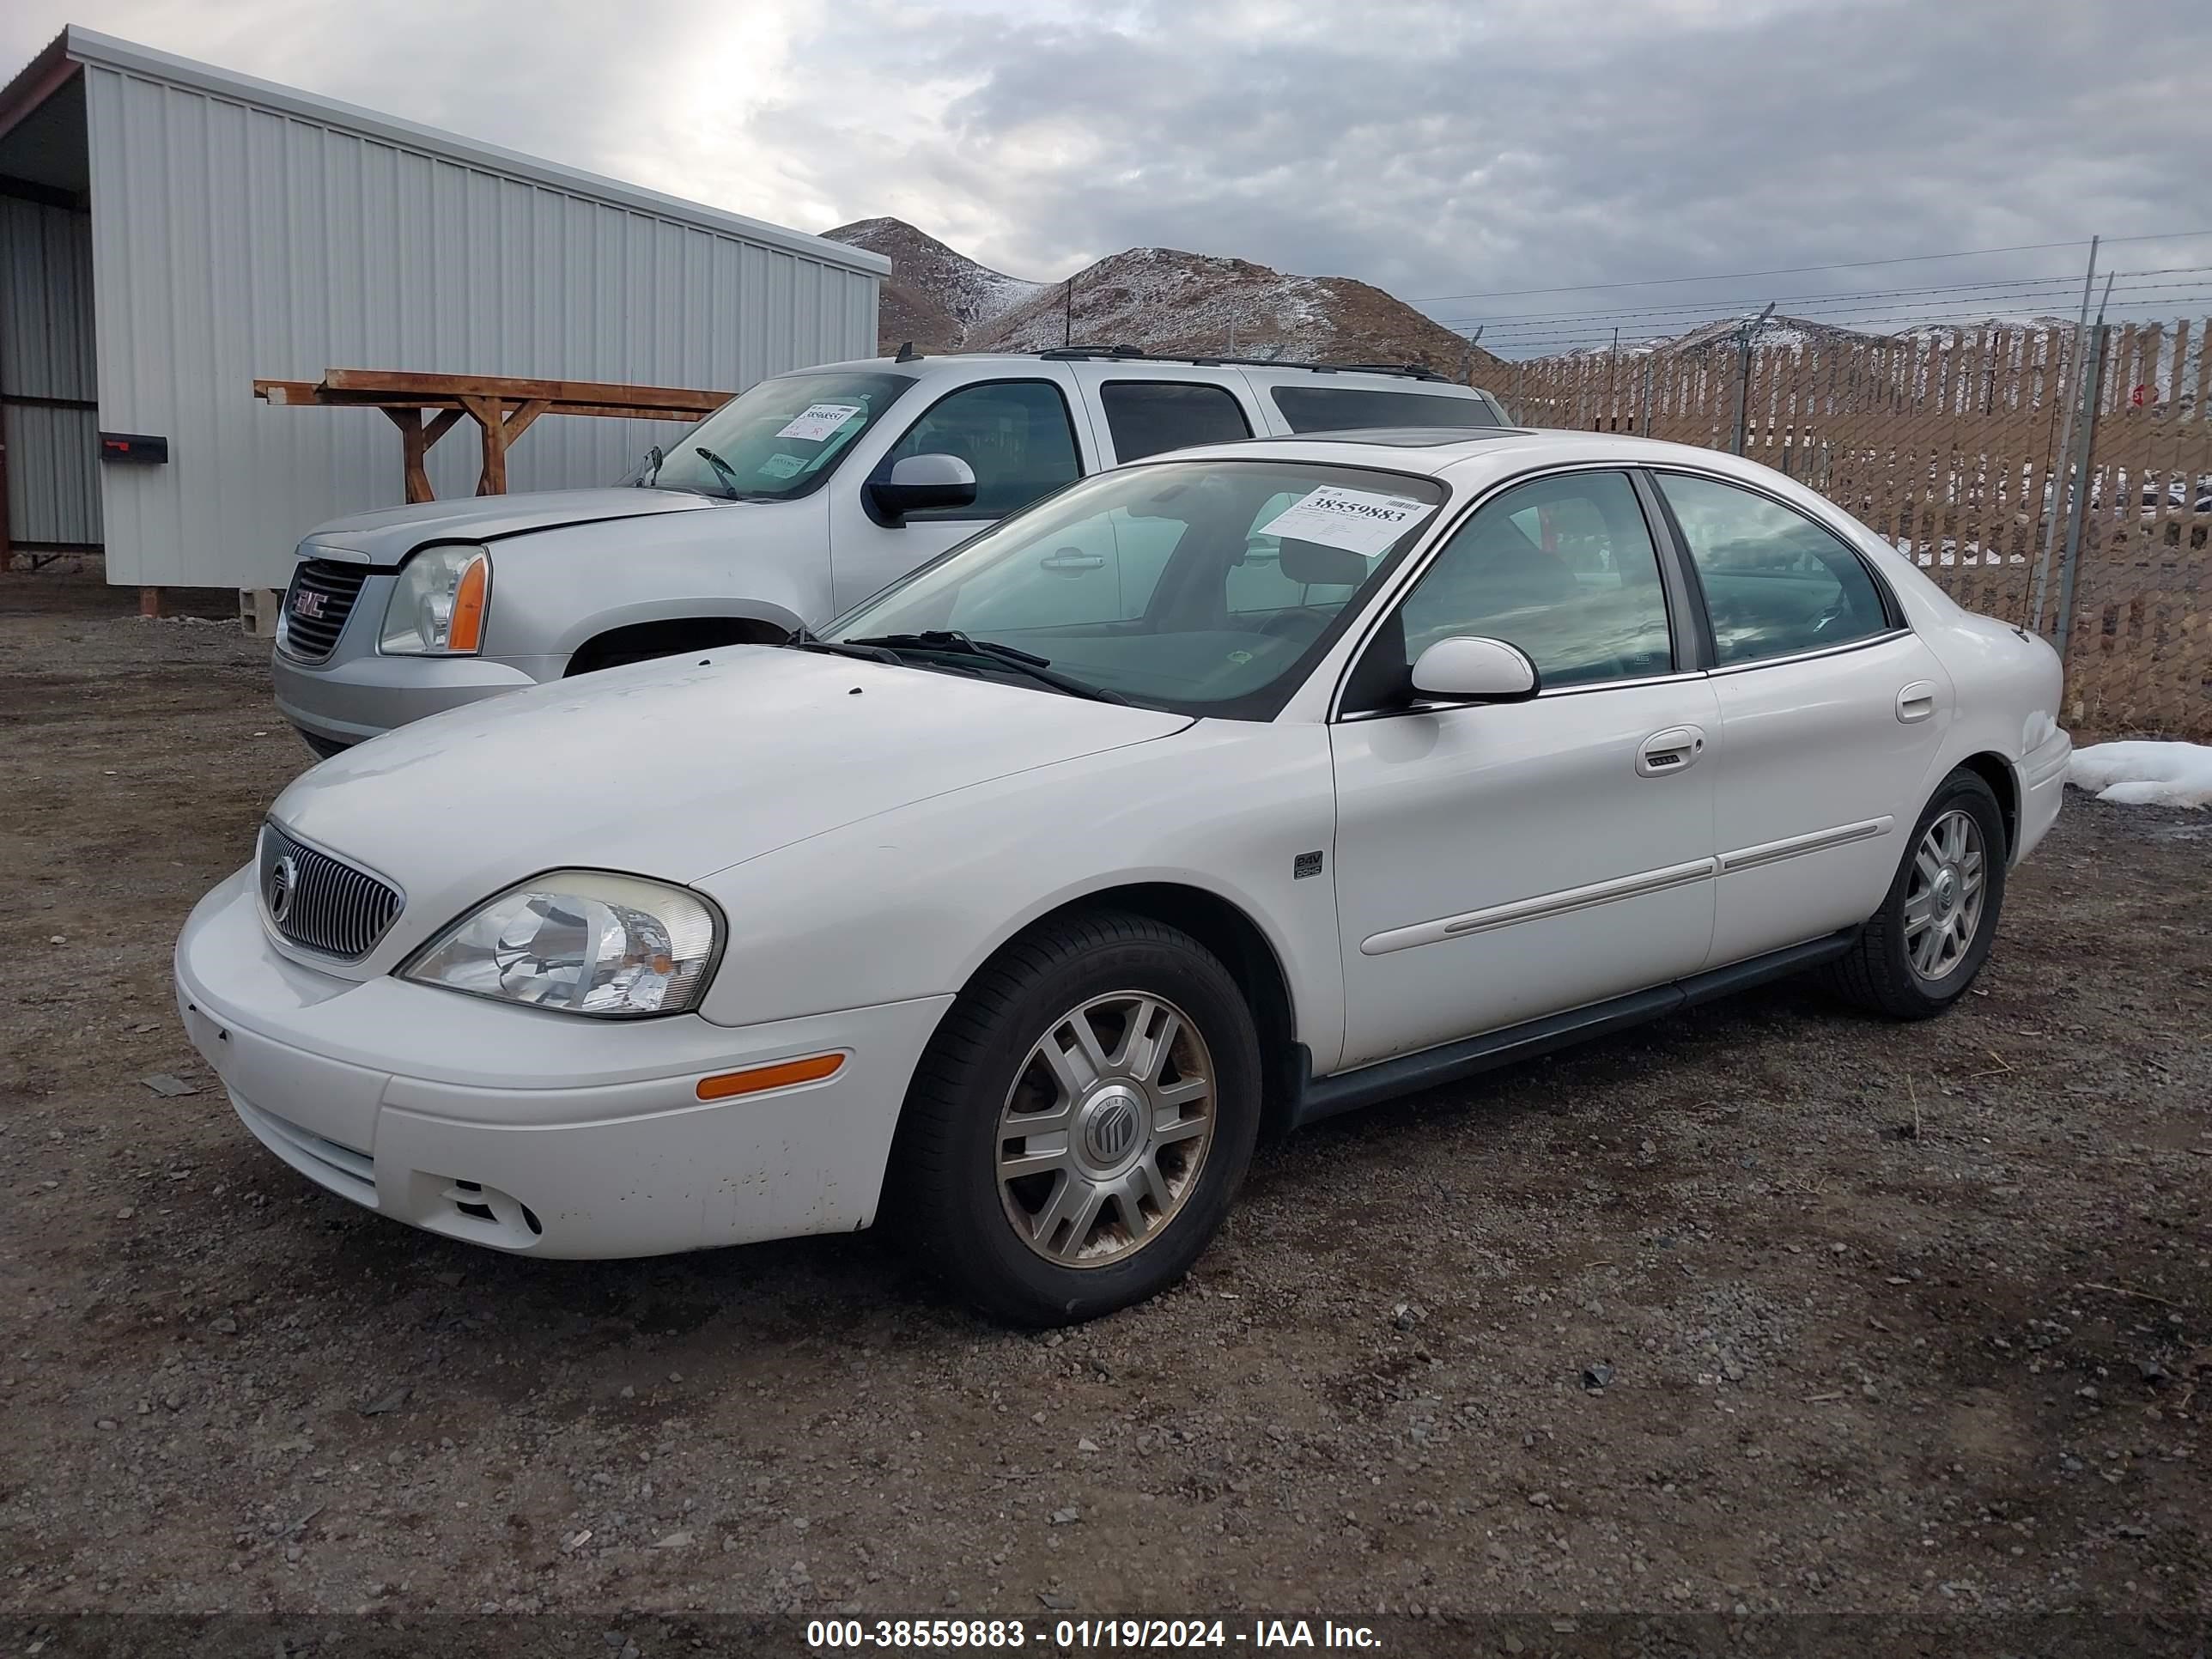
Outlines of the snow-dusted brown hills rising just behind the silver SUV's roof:
M 1031 283 L 978 265 L 902 219 L 823 232 L 891 261 L 878 343 L 920 349 L 1040 352 L 1135 345 L 1152 354 L 1281 356 L 1327 363 L 1422 363 L 1460 376 L 1498 361 L 1449 327 L 1349 276 L 1294 276 L 1181 248 L 1130 248 Z M 1480 376 L 1478 376 L 1480 378 Z

